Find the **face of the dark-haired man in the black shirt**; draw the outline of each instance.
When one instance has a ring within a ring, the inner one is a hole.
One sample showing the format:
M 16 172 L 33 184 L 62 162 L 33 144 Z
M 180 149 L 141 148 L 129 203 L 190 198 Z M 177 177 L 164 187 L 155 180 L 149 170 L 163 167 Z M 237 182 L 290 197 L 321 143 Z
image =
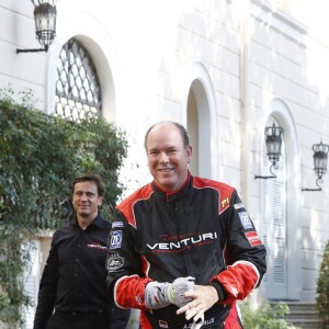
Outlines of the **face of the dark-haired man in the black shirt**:
M 99 206 L 102 204 L 97 183 L 92 181 L 77 183 L 72 202 L 78 218 L 94 219 L 98 215 Z

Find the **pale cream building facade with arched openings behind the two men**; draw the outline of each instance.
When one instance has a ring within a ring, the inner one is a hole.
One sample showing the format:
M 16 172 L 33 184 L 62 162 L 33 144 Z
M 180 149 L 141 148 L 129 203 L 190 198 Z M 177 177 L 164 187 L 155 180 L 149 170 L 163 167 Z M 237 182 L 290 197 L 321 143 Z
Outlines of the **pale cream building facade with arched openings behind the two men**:
M 192 173 L 236 186 L 266 245 L 258 297 L 315 303 L 329 239 L 329 177 L 321 191 L 303 190 L 317 179 L 313 145 L 329 144 L 329 46 L 294 16 L 290 1 L 279 2 L 58 0 L 49 50 L 16 54 L 38 47 L 33 4 L 0 0 L 0 88 L 32 89 L 38 106 L 55 113 L 70 98 L 59 87 L 67 82 L 63 52 L 77 55 L 65 48 L 69 42 L 80 46 L 97 75 L 101 114 L 129 138 L 126 194 L 150 180 L 148 126 L 182 123 Z M 276 178 L 256 178 L 270 172 L 264 129 L 273 124 L 283 129 Z M 29 272 L 35 296 L 49 239 L 36 241 L 44 252 Z

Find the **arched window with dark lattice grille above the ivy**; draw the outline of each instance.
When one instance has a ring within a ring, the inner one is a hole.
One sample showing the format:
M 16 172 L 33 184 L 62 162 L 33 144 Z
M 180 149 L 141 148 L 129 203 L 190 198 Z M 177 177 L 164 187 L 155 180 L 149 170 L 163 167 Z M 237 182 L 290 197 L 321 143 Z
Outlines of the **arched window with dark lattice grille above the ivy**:
M 56 70 L 55 112 L 78 121 L 100 114 L 102 94 L 98 73 L 88 50 L 76 38 L 61 48 Z

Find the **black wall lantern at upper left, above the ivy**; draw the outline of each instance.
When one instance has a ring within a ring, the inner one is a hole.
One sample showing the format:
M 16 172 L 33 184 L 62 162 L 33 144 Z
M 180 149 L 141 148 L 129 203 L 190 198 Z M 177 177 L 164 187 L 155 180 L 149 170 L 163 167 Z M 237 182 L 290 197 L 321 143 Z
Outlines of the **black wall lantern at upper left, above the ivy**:
M 32 0 L 34 4 L 35 34 L 43 48 L 16 49 L 20 53 L 48 52 L 49 45 L 56 36 L 56 0 Z

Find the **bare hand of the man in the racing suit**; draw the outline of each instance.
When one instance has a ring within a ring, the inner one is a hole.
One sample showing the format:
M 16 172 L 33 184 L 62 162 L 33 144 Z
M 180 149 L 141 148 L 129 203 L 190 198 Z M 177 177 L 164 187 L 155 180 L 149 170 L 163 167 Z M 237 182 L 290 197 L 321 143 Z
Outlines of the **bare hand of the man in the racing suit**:
M 193 322 L 204 317 L 215 303 L 218 302 L 217 291 L 212 285 L 195 285 L 194 291 L 186 292 L 185 297 L 193 300 L 177 310 L 177 314 L 185 314 L 186 320 L 193 318 Z

